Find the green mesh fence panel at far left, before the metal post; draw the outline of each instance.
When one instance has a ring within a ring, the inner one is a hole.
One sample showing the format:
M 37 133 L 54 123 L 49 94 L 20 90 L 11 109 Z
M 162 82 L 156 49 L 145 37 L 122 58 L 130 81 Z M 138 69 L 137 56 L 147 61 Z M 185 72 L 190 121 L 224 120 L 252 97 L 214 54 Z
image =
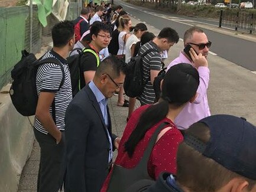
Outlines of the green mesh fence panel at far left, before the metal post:
M 0 88 L 10 80 L 12 67 L 20 60 L 25 47 L 26 6 L 0 8 Z

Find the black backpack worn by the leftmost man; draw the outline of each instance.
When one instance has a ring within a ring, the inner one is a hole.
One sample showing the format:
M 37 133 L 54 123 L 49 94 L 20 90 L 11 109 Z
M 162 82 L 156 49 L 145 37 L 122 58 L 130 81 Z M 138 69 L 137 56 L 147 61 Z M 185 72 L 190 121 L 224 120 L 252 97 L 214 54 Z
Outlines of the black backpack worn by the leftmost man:
M 37 60 L 33 53 L 28 53 L 26 50 L 22 50 L 21 54 L 21 60 L 15 64 L 11 71 L 13 82 L 9 95 L 14 107 L 21 115 L 31 116 L 35 115 L 35 109 L 37 108 L 38 95 L 35 79 L 38 67 L 45 63 L 58 64 L 63 73 L 60 87 L 64 83 L 64 69 L 57 58 L 51 57 L 39 61 L 40 59 Z

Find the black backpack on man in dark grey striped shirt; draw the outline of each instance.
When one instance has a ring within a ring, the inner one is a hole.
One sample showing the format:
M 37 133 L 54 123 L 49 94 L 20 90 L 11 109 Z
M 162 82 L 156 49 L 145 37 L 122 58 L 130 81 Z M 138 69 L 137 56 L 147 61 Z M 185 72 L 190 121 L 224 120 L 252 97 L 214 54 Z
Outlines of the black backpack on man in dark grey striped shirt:
M 124 80 L 124 90 L 128 97 L 141 96 L 147 80 L 143 79 L 142 59 L 145 55 L 152 51 L 157 51 L 155 48 L 150 48 L 140 56 L 132 57 L 127 64 L 127 73 Z

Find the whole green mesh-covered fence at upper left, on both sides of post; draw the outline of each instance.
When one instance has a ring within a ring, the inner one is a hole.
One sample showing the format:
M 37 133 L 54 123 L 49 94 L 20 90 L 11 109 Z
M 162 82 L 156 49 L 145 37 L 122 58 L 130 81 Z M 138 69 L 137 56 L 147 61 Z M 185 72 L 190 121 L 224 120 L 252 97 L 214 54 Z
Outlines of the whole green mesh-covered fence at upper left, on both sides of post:
M 66 19 L 79 16 L 81 1 L 70 2 Z M 38 53 L 42 40 L 51 35 L 51 28 L 59 22 L 53 14 L 47 17 L 47 27 L 38 20 L 37 6 L 33 6 L 32 30 L 30 30 L 30 8 L 28 6 L 0 7 L 0 89 L 11 82 L 11 70 L 21 59 L 21 50 Z M 32 48 L 30 50 L 30 34 Z M 49 39 L 49 38 L 48 38 Z

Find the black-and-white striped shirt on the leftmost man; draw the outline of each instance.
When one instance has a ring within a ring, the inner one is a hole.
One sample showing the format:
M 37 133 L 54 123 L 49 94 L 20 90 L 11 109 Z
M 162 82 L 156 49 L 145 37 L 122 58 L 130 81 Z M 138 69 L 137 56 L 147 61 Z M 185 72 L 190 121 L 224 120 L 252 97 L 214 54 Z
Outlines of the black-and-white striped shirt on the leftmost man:
M 56 126 L 60 130 L 64 131 L 65 122 L 64 117 L 66 113 L 67 106 L 72 100 L 72 86 L 70 80 L 70 72 L 69 66 L 67 65 L 67 61 L 61 57 L 59 54 L 54 52 L 53 50 L 48 51 L 42 59 L 54 57 L 57 58 L 63 66 L 64 69 L 64 83 L 60 87 L 61 80 L 63 78 L 63 73 L 58 64 L 54 63 L 46 63 L 41 64 L 41 66 L 37 69 L 37 94 L 40 92 L 52 92 L 55 93 L 55 114 L 56 114 Z M 60 89 L 59 89 L 60 88 Z M 50 107 L 50 114 L 52 116 L 52 108 Z M 54 119 L 53 119 L 54 120 Z M 43 128 L 40 121 L 35 118 L 34 123 L 35 129 L 38 131 L 48 134 L 46 129 Z

